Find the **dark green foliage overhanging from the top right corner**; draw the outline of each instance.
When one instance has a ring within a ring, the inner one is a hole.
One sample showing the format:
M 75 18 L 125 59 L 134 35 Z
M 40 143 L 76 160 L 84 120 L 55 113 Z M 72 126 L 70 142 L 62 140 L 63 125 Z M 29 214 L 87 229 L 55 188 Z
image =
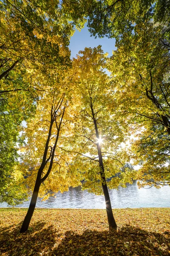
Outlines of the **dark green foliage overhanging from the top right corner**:
M 121 40 L 133 34 L 133 29 L 146 19 L 169 27 L 169 1 L 149 0 L 94 0 L 86 11 L 92 35 Z M 169 30 L 167 32 L 169 37 Z

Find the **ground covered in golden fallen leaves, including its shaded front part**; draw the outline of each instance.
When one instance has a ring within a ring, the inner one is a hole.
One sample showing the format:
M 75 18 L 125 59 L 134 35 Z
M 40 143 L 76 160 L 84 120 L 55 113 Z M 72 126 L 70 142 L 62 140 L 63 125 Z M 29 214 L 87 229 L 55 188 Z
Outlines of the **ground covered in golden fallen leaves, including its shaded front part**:
M 109 232 L 102 209 L 35 209 L 20 234 L 26 209 L 0 209 L 0 255 L 170 255 L 170 208 L 113 209 Z

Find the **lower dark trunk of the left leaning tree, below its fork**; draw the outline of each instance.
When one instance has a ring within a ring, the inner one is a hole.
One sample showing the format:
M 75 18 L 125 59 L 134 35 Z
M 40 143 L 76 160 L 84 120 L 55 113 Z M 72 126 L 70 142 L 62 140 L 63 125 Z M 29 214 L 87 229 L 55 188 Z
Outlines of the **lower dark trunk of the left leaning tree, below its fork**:
M 39 192 L 39 189 L 40 189 L 40 184 L 41 184 L 40 181 L 38 182 L 36 180 L 36 183 L 35 183 L 35 186 L 34 186 L 34 191 L 33 191 L 32 198 L 31 198 L 31 202 L 30 202 L 30 205 L 29 205 L 29 208 L 28 208 L 28 212 L 27 212 L 26 217 L 23 221 L 23 225 L 20 229 L 20 233 L 24 233 L 28 230 L 28 227 L 29 227 L 29 224 L 30 224 L 30 221 L 31 221 L 31 218 L 32 218 L 32 215 L 34 213 L 35 206 L 36 206 L 38 192 Z

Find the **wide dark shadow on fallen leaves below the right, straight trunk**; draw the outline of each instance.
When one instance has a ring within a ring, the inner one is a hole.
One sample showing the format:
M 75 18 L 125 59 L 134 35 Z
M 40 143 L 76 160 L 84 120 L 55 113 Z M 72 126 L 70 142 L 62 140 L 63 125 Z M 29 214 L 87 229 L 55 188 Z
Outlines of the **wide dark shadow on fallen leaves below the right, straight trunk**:
M 118 232 L 86 230 L 82 235 L 68 231 L 54 248 L 55 256 L 170 256 L 170 233 L 147 232 L 126 226 Z

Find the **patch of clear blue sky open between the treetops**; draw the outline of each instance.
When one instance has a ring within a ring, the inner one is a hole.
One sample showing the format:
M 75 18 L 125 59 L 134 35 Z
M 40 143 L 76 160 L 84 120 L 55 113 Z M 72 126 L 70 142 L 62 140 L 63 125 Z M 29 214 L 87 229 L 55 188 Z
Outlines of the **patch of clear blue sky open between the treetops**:
M 97 47 L 102 45 L 102 50 L 108 52 L 108 56 L 112 55 L 112 51 L 115 50 L 115 39 L 114 38 L 94 38 L 90 36 L 88 32 L 88 27 L 85 24 L 85 27 L 79 32 L 77 29 L 74 35 L 71 37 L 70 46 L 71 49 L 71 58 L 76 57 L 80 50 L 84 50 L 85 47 Z

